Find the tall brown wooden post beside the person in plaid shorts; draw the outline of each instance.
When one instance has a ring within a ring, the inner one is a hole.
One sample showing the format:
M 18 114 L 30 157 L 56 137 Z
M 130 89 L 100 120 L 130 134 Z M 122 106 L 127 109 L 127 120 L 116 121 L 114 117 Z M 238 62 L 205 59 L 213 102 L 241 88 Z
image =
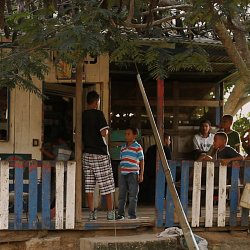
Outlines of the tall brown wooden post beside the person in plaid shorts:
M 83 105 L 83 61 L 76 66 L 76 131 L 75 131 L 75 159 L 76 159 L 76 223 L 82 220 L 82 105 Z

